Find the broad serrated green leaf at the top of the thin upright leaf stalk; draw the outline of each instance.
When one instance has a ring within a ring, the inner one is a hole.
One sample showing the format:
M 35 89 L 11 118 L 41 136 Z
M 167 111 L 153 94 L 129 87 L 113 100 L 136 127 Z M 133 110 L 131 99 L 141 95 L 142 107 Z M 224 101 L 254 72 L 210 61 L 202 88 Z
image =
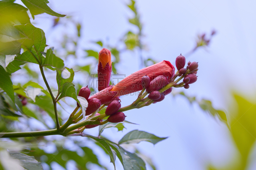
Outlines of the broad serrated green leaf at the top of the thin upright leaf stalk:
M 21 44 L 26 46 L 29 50 L 34 45 L 35 50 L 38 52 L 38 55 L 41 57 L 41 52 L 44 52 L 45 48 L 45 35 L 44 31 L 40 28 L 36 28 L 32 24 L 18 25 L 15 28 L 19 31 L 21 38 L 26 38 L 29 41 L 22 41 Z

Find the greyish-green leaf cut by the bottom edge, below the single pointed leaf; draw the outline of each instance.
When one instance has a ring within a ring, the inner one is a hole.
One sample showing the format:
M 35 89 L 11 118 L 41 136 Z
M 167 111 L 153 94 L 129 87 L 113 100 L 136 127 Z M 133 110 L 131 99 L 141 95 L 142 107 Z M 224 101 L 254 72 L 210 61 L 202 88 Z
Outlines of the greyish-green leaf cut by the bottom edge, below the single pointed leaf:
M 121 161 L 124 170 L 146 170 L 145 162 L 136 154 L 125 151 L 121 146 L 109 144 L 116 151 L 116 156 Z

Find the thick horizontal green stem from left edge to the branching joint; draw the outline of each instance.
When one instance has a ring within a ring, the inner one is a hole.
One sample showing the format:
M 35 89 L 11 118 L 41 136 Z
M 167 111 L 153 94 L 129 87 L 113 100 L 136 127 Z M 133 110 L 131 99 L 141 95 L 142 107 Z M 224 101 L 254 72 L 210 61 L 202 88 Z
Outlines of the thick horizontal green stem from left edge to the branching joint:
M 49 135 L 60 135 L 57 129 L 42 130 L 34 132 L 12 132 L 12 133 L 0 133 L 0 137 L 40 137 Z

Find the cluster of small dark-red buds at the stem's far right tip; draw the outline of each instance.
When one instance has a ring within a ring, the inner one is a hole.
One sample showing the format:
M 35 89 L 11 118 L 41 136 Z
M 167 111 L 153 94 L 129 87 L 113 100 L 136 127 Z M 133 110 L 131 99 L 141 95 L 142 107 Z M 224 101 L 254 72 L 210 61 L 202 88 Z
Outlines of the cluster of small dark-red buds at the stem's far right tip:
M 189 88 L 189 84 L 195 83 L 197 80 L 196 74 L 198 70 L 198 62 L 188 62 L 188 66 L 185 69 L 184 66 L 186 64 L 186 58 L 182 56 L 181 54 L 176 58 L 175 61 L 176 67 L 179 70 L 178 76 L 184 76 L 182 84 L 185 89 Z

